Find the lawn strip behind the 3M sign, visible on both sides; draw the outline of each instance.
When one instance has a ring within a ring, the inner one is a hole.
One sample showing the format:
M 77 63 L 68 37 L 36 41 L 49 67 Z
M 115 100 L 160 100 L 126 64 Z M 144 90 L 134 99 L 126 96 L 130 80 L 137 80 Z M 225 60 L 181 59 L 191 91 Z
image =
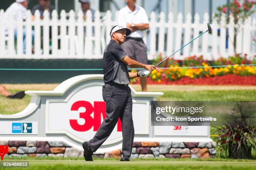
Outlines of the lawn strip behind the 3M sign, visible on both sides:
M 5 85 L 11 92 L 20 90 L 53 90 L 58 84 Z M 137 91 L 140 86 L 132 85 Z M 238 89 L 238 90 L 235 90 Z M 246 90 L 248 89 L 248 90 Z M 157 100 L 174 101 L 241 101 L 256 100 L 254 86 L 184 86 L 184 85 L 148 85 L 148 91 L 164 92 Z M 24 110 L 31 97 L 26 95 L 22 100 L 7 99 L 0 95 L 0 114 L 11 115 Z

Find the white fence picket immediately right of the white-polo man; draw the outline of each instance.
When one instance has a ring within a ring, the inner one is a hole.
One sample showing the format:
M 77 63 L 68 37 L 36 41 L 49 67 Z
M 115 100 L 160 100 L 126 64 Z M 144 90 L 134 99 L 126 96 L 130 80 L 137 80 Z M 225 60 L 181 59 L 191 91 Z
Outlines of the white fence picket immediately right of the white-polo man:
M 156 55 L 156 14 L 152 12 L 150 14 L 150 50 L 149 50 L 149 60 L 154 59 L 154 55 Z

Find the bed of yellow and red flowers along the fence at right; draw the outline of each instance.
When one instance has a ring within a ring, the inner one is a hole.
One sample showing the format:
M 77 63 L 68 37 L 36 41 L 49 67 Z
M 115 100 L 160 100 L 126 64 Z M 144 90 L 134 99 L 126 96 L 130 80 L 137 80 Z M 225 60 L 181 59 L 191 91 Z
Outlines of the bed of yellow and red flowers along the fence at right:
M 153 64 L 161 60 L 159 55 Z M 256 85 L 256 66 L 249 65 L 255 63 L 256 60 L 248 60 L 246 54 L 243 57 L 220 57 L 215 61 L 203 60 L 202 55 L 183 61 L 171 58 L 152 71 L 148 84 Z

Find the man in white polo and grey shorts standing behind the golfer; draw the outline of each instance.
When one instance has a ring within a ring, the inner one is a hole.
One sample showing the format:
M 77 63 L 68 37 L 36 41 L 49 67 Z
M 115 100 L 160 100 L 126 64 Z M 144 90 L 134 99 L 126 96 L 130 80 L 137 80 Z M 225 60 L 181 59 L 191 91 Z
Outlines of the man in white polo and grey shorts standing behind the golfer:
M 136 0 L 125 0 L 126 6 L 119 11 L 118 24 L 129 28 L 132 33 L 121 45 L 123 50 L 133 60 L 143 64 L 148 63 L 147 47 L 143 42 L 143 30 L 149 28 L 149 21 L 143 7 L 136 5 Z M 147 90 L 147 77 L 141 77 L 141 89 Z

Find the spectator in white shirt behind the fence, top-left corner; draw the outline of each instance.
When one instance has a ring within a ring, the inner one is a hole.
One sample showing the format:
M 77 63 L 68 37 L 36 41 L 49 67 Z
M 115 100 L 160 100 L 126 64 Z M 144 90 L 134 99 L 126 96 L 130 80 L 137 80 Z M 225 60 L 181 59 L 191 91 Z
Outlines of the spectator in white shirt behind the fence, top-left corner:
M 11 14 L 13 13 L 14 21 L 14 37 L 17 38 L 17 21 L 18 14 L 21 12 L 22 19 L 26 20 L 26 13 L 28 8 L 28 0 L 16 0 L 8 9 L 5 11 L 4 25 L 5 25 L 5 34 L 8 35 L 9 22 L 11 20 Z M 34 32 L 32 30 L 32 40 L 34 39 Z M 23 29 L 23 53 L 26 52 L 26 30 Z

